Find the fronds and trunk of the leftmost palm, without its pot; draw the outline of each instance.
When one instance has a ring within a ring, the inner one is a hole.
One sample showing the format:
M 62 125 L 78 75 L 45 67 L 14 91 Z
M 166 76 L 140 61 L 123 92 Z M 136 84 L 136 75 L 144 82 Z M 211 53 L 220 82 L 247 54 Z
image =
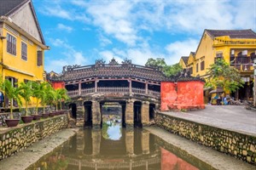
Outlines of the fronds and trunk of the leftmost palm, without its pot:
M 14 99 L 17 101 L 18 105 L 21 104 L 21 99 L 20 99 L 20 88 L 15 88 L 8 79 L 4 80 L 2 83 L 0 83 L 0 88 L 3 90 L 4 94 L 6 97 L 8 97 L 10 101 L 10 119 L 14 119 L 14 114 L 13 114 L 13 103 Z

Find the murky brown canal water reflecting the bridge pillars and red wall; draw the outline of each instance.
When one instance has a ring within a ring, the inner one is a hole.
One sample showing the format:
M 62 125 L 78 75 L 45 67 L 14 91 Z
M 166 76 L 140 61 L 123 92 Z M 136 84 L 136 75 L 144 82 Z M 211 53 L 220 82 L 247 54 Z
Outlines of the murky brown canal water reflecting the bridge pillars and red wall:
M 189 160 L 184 154 L 181 158 L 170 152 L 170 145 L 141 128 L 121 128 L 119 139 L 114 140 L 106 139 L 103 133 L 103 129 L 81 130 L 29 169 L 199 169 L 184 161 Z

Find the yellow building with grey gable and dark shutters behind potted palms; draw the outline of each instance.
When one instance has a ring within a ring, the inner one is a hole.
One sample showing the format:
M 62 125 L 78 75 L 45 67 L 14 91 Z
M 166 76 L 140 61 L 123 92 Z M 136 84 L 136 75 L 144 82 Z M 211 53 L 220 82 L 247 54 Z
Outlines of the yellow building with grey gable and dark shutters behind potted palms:
M 16 82 L 44 81 L 45 45 L 31 0 L 0 1 L 0 75 Z

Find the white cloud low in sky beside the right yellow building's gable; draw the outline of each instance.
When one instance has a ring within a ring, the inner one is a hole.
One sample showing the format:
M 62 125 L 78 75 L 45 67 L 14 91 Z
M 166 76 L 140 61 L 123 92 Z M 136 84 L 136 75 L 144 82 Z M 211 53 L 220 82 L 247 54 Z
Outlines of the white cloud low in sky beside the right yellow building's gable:
M 190 52 L 195 52 L 198 43 L 198 40 L 189 39 L 185 41 L 172 42 L 166 45 L 166 51 L 169 56 L 166 57 L 166 64 L 176 64 L 182 56 L 189 56 Z

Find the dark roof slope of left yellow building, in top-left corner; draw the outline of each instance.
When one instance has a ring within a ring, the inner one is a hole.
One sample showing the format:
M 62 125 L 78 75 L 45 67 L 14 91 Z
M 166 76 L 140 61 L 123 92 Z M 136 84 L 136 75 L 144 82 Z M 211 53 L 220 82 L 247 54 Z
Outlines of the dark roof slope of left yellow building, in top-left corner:
M 28 0 L 0 0 L 0 16 L 9 16 Z

